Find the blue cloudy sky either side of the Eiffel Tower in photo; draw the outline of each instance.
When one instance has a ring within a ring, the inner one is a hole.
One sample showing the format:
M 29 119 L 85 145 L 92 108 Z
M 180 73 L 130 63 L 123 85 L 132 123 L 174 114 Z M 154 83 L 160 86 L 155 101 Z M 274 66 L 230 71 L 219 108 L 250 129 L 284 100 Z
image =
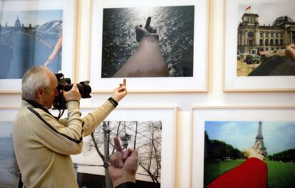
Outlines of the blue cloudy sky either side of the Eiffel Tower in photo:
M 207 121 L 205 130 L 210 140 L 222 140 L 243 151 L 254 145 L 258 125 L 258 121 Z M 295 148 L 295 122 L 262 122 L 262 135 L 269 155 Z

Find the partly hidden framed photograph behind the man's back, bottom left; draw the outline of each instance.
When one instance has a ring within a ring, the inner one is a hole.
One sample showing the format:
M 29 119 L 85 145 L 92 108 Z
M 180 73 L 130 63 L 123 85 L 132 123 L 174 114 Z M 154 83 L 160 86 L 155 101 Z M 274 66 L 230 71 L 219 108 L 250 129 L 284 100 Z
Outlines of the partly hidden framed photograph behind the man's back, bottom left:
M 18 187 L 19 167 L 14 155 L 12 124 L 18 110 L 0 109 L 0 187 Z

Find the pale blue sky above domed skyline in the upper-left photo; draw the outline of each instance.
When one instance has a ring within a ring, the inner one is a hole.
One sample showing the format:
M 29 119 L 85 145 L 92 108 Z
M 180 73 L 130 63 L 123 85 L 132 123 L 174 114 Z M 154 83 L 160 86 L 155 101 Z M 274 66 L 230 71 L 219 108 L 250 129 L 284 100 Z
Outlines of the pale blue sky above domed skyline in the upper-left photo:
M 63 20 L 63 10 L 42 10 L 42 11 L 0 11 L 0 23 L 2 26 L 14 26 L 16 18 L 19 16 L 21 24 L 24 26 L 42 25 L 50 20 Z

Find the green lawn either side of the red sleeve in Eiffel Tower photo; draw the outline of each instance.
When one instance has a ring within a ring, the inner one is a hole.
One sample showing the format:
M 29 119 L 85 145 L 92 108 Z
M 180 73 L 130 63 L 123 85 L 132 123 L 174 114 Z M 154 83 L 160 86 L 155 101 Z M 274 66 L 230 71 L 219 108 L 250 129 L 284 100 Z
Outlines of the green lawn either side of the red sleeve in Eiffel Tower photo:
M 244 160 L 206 161 L 204 172 L 204 184 L 208 185 L 219 175 L 229 171 Z M 265 160 L 268 169 L 268 187 L 294 187 L 295 184 L 295 163 L 275 162 Z

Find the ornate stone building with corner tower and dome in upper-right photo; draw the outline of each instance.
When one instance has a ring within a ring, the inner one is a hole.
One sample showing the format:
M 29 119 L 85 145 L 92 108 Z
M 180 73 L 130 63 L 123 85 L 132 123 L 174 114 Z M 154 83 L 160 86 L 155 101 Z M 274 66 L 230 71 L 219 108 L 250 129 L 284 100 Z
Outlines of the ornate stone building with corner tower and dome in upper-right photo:
M 283 51 L 295 43 L 295 22 L 288 16 L 281 16 L 270 26 L 259 24 L 258 14 L 244 14 L 238 26 L 237 49 L 248 53 L 252 49 L 274 53 Z

